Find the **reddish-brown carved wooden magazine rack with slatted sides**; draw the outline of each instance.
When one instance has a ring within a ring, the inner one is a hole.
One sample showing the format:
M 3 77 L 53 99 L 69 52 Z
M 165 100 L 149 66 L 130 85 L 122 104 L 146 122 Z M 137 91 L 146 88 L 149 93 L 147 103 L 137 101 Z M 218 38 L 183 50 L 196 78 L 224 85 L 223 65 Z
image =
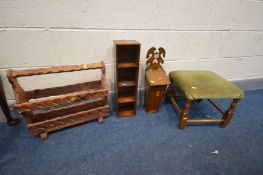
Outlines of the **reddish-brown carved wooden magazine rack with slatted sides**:
M 46 89 L 25 91 L 17 79 L 92 69 L 101 69 L 100 80 Z M 9 69 L 7 78 L 14 90 L 16 109 L 25 118 L 31 134 L 40 135 L 41 139 L 46 139 L 48 132 L 90 120 L 98 119 L 102 123 L 104 117 L 109 115 L 104 62 L 27 70 Z

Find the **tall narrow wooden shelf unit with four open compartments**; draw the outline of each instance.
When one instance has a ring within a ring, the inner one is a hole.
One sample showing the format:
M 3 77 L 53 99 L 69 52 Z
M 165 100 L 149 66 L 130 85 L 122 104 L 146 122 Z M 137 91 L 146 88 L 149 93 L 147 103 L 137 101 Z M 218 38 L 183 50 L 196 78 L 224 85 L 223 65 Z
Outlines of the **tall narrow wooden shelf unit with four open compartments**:
M 116 109 L 118 117 L 136 114 L 141 44 L 135 40 L 115 40 Z

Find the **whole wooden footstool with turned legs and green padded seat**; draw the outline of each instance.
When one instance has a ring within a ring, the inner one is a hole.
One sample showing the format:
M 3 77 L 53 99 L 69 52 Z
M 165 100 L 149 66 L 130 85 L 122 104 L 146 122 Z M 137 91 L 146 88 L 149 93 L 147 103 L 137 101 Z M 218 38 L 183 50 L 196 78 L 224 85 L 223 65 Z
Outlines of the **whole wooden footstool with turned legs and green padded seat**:
M 168 89 L 168 97 L 173 106 L 180 114 L 179 128 L 184 128 L 188 123 L 220 123 L 220 127 L 226 127 L 233 114 L 238 102 L 244 98 L 244 93 L 233 83 L 225 80 L 221 76 L 211 71 L 172 71 L 169 74 L 172 85 Z M 179 90 L 186 103 L 181 109 L 174 98 L 174 89 Z M 201 101 L 207 99 L 222 115 L 222 119 L 189 119 L 189 109 L 191 101 Z M 223 111 L 211 99 L 232 99 L 230 107 Z

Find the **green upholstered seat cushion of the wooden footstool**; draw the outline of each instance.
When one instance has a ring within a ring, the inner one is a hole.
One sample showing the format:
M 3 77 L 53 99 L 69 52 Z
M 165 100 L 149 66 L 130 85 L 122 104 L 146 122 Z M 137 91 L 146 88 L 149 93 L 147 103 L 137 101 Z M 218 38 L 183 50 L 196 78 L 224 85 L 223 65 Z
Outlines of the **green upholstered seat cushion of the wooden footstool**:
M 211 71 L 172 71 L 169 76 L 189 100 L 208 98 L 242 99 L 244 93 L 233 83 Z

